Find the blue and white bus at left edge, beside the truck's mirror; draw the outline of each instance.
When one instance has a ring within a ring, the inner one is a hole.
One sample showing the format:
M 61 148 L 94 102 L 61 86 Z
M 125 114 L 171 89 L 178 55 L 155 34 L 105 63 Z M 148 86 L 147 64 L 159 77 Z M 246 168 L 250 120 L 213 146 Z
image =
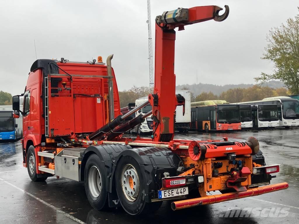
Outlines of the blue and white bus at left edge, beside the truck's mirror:
M 17 140 L 23 135 L 22 119 L 13 118 L 12 113 L 12 106 L 0 106 L 0 141 Z

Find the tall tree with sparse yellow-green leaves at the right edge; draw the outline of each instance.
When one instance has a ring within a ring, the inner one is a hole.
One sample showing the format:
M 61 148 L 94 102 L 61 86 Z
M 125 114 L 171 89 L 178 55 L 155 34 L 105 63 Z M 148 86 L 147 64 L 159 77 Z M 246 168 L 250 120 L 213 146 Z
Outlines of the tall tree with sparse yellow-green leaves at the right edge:
M 299 10 L 299 7 L 298 7 Z M 262 59 L 274 62 L 274 73 L 261 73 L 254 78 L 265 83 L 277 79 L 285 83 L 292 94 L 299 94 L 299 15 L 289 18 L 286 24 L 274 27 L 266 36 L 268 42 Z

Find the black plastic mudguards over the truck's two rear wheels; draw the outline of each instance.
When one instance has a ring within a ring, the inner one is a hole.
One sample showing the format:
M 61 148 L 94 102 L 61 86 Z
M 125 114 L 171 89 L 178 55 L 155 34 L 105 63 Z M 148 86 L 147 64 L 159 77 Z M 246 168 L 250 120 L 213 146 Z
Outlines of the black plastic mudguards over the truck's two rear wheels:
M 145 197 L 146 202 L 150 202 L 152 198 L 157 198 L 155 194 L 162 187 L 164 172 L 168 172 L 170 176 L 176 176 L 176 169 L 179 166 L 179 162 L 181 162 L 181 158 L 168 148 L 132 148 L 129 145 L 120 144 L 91 145 L 86 148 L 83 154 L 80 168 L 81 181 L 84 181 L 85 164 L 91 154 L 97 154 L 105 165 L 106 189 L 109 191 L 110 207 L 120 205 L 115 190 L 114 177 L 118 161 L 122 157 L 131 156 L 140 164 L 141 171 L 145 174 L 144 177 L 146 179 L 144 182 L 145 192 L 147 193 Z

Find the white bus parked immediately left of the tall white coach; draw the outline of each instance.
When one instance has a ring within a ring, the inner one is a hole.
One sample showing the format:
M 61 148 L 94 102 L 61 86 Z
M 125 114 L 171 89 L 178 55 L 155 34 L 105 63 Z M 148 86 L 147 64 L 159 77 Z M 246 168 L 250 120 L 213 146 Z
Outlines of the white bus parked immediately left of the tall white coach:
M 254 128 L 279 127 L 278 107 L 275 104 L 251 106 Z

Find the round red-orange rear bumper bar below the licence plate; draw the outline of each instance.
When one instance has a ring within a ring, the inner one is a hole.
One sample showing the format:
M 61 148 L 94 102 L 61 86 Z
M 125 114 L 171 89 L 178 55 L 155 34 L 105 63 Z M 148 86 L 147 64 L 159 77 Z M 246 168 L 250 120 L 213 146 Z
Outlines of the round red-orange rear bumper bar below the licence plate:
M 184 209 L 184 208 L 195 207 L 198 205 L 215 204 L 218 202 L 230 201 L 230 200 L 244 198 L 244 197 L 257 196 L 260 194 L 266 194 L 266 193 L 270 193 L 273 191 L 280 191 L 280 190 L 286 189 L 288 187 L 289 187 L 289 184 L 284 182 L 284 183 L 279 183 L 279 184 L 268 185 L 265 187 L 251 188 L 251 189 L 248 189 L 247 191 L 242 191 L 242 192 L 209 195 L 206 197 L 199 197 L 199 198 L 193 198 L 193 199 L 188 199 L 188 200 L 172 202 L 171 208 L 173 210 L 179 210 L 179 209 Z

